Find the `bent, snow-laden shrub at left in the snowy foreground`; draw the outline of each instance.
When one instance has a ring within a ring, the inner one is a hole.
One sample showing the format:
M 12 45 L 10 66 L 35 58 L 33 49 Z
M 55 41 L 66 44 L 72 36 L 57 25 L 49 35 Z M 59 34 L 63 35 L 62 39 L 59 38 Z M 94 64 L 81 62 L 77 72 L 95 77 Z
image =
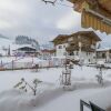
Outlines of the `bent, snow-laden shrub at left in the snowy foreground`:
M 26 92 L 28 92 L 28 88 L 31 89 L 31 91 L 33 92 L 33 95 L 37 94 L 37 87 L 39 83 L 41 83 L 42 81 L 40 81 L 39 79 L 34 79 L 32 81 L 32 84 L 30 84 L 29 82 L 27 82 L 23 78 L 20 80 L 20 82 L 18 82 L 14 88 L 21 89 Z

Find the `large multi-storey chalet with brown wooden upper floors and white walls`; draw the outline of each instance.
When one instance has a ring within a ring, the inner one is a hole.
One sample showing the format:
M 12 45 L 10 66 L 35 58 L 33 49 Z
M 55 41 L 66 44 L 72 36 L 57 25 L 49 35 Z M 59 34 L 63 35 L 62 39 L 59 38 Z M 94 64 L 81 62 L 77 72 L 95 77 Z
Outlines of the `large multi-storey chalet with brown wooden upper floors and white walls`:
M 52 42 L 56 47 L 56 56 L 64 58 L 65 54 L 84 62 L 95 62 L 97 43 L 101 39 L 93 31 L 79 31 L 72 34 L 60 34 Z

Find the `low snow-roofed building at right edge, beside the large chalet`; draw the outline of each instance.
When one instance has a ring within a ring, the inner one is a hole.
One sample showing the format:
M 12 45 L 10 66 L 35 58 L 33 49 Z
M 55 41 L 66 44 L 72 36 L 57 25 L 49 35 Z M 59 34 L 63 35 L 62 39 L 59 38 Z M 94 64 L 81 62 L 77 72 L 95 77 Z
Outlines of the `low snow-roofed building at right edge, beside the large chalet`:
M 111 48 L 98 49 L 97 59 L 98 61 L 111 62 Z

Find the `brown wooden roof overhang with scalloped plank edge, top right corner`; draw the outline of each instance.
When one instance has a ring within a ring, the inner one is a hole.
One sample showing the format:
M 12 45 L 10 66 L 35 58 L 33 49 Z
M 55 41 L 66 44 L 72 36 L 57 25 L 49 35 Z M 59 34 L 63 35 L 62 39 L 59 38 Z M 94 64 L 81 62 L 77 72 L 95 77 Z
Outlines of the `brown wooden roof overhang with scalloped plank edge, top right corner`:
M 74 4 L 74 10 L 82 13 L 83 28 L 93 28 L 111 33 L 111 0 L 68 0 Z

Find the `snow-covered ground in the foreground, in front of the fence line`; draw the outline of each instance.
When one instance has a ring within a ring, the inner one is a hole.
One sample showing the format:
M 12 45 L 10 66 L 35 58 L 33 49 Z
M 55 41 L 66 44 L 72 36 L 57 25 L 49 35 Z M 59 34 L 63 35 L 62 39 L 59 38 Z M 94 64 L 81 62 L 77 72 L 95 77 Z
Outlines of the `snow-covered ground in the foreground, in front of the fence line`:
M 41 69 L 38 72 L 32 70 L 0 71 L 0 111 L 80 111 L 80 99 L 98 101 L 100 107 L 103 104 L 102 97 L 109 99 L 111 70 L 103 71 L 104 85 L 101 87 L 95 79 L 99 70 L 90 67 L 81 69 L 74 65 L 72 69 L 73 90 L 71 91 L 64 91 L 60 87 L 61 73 L 61 68 Z M 13 89 L 21 78 L 29 83 L 34 78 L 43 81 L 38 87 L 36 97 L 31 92 L 26 93 Z M 98 98 L 101 99 L 98 100 Z M 111 101 L 108 102 L 110 105 Z

